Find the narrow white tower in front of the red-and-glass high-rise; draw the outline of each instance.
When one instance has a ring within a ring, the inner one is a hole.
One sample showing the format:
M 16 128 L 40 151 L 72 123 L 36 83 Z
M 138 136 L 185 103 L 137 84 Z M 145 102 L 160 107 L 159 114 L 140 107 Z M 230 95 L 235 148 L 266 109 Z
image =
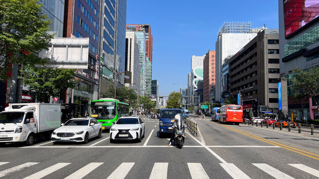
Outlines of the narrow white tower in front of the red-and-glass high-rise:
M 139 79 L 140 79 L 140 48 L 138 39 L 135 32 L 126 32 L 126 48 L 125 48 L 125 70 L 131 72 L 131 77 L 125 83 L 125 86 L 132 87 L 136 94 L 139 91 Z

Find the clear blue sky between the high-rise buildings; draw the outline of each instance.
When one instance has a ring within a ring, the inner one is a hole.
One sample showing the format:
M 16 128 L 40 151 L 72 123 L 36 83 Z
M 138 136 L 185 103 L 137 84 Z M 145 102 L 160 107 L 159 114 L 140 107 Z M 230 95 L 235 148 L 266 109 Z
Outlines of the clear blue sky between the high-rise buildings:
M 128 0 L 127 24 L 150 24 L 152 79 L 168 96 L 187 85 L 192 55 L 215 50 L 224 22 L 251 21 L 252 28 L 278 28 L 277 0 Z

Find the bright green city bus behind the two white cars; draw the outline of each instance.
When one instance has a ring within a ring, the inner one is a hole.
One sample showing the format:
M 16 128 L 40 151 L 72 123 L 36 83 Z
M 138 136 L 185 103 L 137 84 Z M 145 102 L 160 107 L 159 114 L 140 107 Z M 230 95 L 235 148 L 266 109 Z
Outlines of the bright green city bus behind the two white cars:
M 90 105 L 90 117 L 94 117 L 102 124 L 102 129 L 110 129 L 122 116 L 129 116 L 130 107 L 112 98 L 93 100 Z

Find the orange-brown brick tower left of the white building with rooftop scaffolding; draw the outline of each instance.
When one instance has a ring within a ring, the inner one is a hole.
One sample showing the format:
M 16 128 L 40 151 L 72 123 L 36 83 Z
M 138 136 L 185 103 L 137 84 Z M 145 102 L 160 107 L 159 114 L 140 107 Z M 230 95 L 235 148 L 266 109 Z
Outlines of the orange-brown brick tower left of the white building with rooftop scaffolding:
M 209 97 L 210 89 L 215 87 L 215 51 L 208 51 L 203 62 L 203 100 L 212 101 Z

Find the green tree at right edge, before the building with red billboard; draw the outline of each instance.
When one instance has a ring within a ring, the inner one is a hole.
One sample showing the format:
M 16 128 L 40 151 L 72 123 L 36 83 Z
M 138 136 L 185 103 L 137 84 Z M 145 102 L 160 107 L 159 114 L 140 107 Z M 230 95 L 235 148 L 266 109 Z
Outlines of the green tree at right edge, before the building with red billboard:
M 292 84 L 296 91 L 304 91 L 304 97 L 312 98 L 319 110 L 319 98 L 316 98 L 319 96 L 319 67 L 306 70 L 296 68 L 294 72 L 295 78 L 292 79 Z

